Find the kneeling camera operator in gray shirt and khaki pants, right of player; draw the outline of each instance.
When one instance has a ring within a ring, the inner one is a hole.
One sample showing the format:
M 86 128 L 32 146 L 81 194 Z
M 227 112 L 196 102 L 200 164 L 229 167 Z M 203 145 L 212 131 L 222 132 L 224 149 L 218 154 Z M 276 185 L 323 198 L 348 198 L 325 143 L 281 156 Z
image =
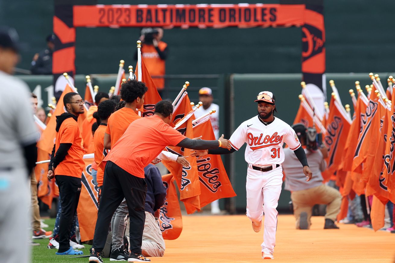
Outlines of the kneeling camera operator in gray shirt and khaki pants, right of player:
M 338 229 L 335 225 L 339 214 L 341 195 L 338 190 L 323 184 L 321 172 L 326 169 L 324 158 L 328 156 L 327 148 L 322 145 L 321 134 L 314 128 L 306 128 L 303 124 L 294 124 L 293 130 L 305 149 L 307 162 L 313 177 L 306 182 L 299 160 L 289 148 L 284 149 L 285 161 L 282 168 L 285 173 L 285 190 L 291 192 L 293 214 L 296 218 L 296 229 L 309 229 L 312 207 L 316 204 L 327 205 L 324 229 Z

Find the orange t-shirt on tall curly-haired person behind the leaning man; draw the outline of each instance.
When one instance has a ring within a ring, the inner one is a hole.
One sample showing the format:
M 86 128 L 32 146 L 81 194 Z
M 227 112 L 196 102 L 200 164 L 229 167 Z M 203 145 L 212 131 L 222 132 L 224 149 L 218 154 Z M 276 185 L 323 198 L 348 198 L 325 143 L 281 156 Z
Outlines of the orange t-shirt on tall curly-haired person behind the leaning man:
M 111 114 L 108 118 L 107 128 L 105 129 L 105 133 L 109 134 L 111 137 L 111 149 L 124 134 L 129 124 L 139 118 L 141 117 L 137 115 L 134 110 L 126 107 Z

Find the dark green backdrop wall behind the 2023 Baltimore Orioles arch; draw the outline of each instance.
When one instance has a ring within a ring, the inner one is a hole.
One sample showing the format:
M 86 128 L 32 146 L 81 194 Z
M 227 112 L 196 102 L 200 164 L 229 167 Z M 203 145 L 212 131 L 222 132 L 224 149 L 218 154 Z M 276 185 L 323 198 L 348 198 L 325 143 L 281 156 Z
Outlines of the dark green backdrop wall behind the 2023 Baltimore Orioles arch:
M 126 1 L 98 4 L 232 4 L 234 0 Z M 278 0 L 258 1 L 278 3 Z M 250 2 L 254 4 L 256 2 Z M 325 1 L 327 72 L 391 71 L 395 34 L 390 1 Z M 28 69 L 34 53 L 52 32 L 53 1 L 0 1 L 0 24 L 14 26 L 25 43 L 19 68 Z M 77 73 L 116 73 L 120 59 L 135 64 L 139 28 L 78 28 Z M 300 28 L 224 28 L 165 30 L 167 73 L 299 73 Z

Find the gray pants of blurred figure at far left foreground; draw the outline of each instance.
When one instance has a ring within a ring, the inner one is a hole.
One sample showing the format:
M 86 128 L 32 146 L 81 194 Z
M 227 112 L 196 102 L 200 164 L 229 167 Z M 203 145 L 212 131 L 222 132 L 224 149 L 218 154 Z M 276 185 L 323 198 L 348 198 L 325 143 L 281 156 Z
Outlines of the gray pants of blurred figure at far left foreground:
M 30 262 L 30 180 L 26 169 L 0 171 L 0 259 Z M 18 245 L 15 245 L 18 244 Z

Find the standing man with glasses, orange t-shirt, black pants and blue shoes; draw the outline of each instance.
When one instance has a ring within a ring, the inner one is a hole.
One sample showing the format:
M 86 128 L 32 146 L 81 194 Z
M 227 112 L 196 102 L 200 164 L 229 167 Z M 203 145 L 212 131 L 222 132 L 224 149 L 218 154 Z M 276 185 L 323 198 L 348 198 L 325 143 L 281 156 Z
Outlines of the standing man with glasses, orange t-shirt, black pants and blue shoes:
M 48 167 L 49 179 L 55 177 L 59 187 L 62 214 L 59 222 L 59 250 L 56 255 L 81 255 L 70 246 L 70 229 L 81 193 L 81 174 L 85 167 L 82 137 L 77 123 L 84 113 L 84 100 L 78 93 L 63 97 L 66 113 L 56 116 L 55 145 Z

